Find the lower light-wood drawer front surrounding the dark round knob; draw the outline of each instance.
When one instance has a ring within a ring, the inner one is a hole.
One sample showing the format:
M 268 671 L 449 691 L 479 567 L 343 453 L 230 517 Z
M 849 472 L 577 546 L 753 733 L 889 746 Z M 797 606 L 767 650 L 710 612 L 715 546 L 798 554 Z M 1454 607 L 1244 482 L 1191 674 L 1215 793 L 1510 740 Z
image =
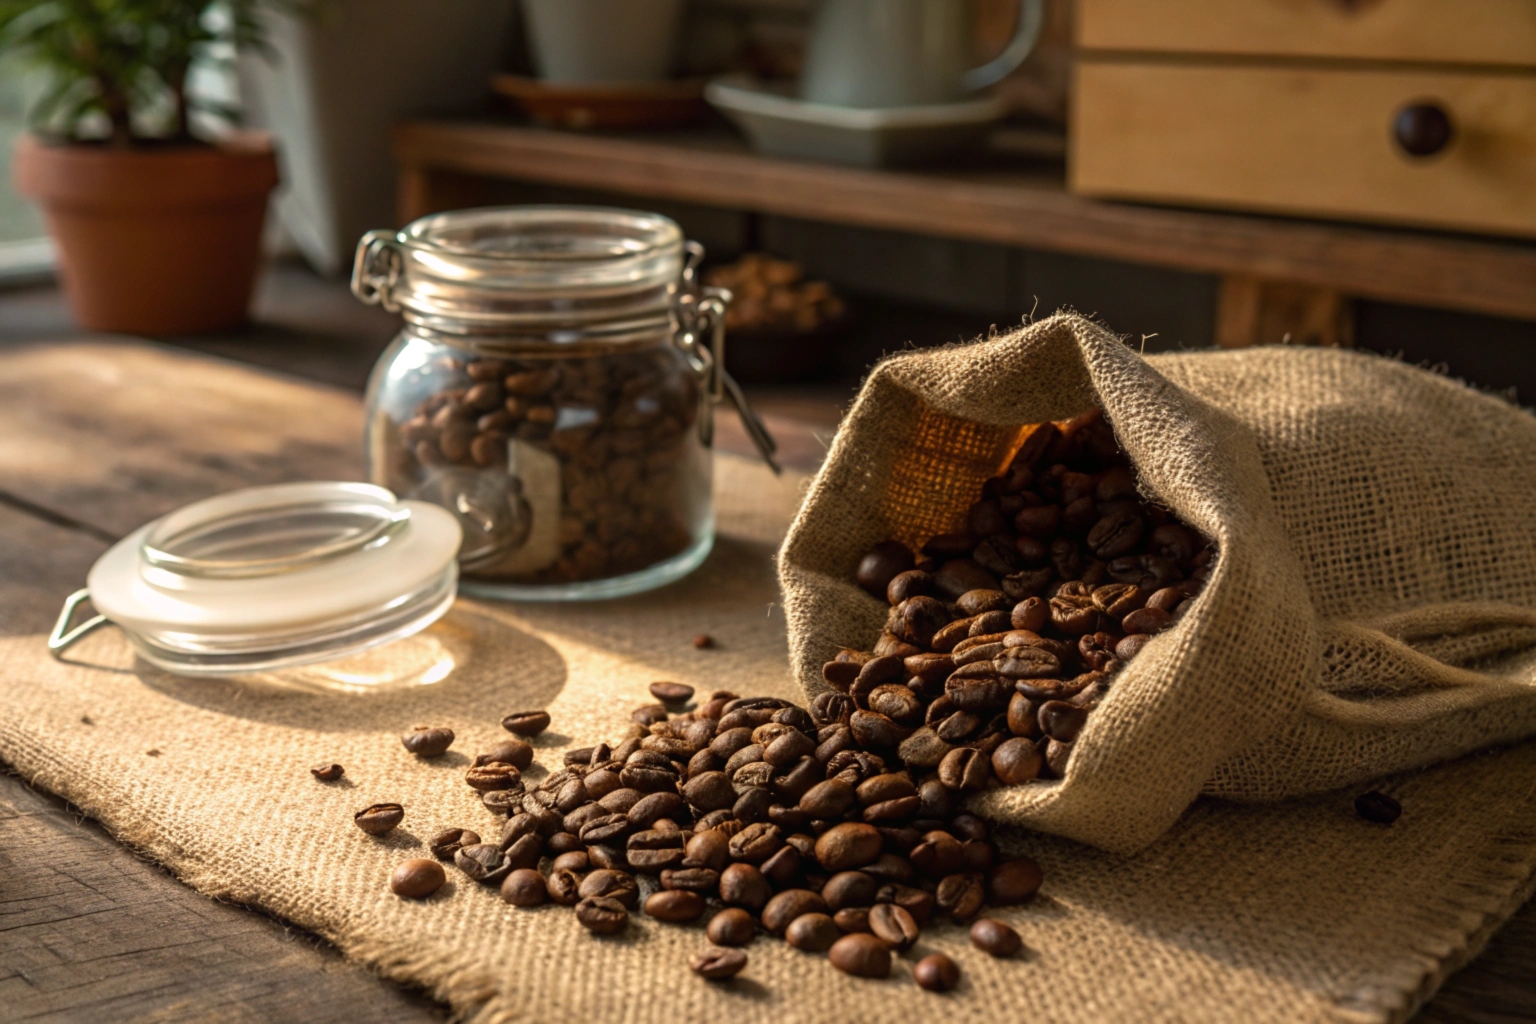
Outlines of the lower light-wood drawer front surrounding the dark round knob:
M 1536 235 L 1531 74 L 1084 55 L 1075 86 L 1083 193 Z M 1413 158 L 1393 126 L 1421 101 L 1455 134 Z

